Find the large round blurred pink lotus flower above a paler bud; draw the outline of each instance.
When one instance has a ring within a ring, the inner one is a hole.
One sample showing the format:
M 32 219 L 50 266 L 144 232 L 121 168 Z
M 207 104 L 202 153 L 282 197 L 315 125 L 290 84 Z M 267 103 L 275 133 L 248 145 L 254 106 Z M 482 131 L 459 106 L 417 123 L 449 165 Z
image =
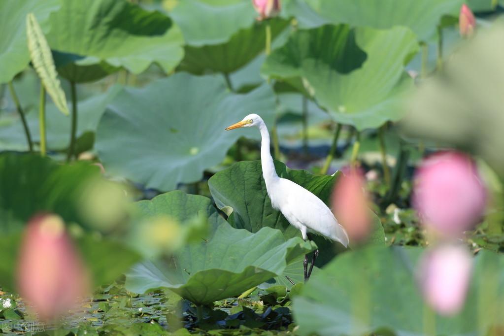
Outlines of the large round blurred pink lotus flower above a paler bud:
M 478 222 L 485 203 L 486 189 L 476 165 L 465 154 L 432 155 L 416 172 L 413 206 L 434 232 L 460 235 Z

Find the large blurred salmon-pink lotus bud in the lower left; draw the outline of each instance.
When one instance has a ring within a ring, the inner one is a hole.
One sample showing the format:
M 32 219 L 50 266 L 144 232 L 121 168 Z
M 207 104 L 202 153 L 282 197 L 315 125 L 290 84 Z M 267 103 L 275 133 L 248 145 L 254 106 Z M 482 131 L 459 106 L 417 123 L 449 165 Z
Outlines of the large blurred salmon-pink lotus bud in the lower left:
M 88 274 L 65 224 L 56 215 L 37 215 L 21 242 L 17 286 L 39 318 L 53 320 L 88 293 Z

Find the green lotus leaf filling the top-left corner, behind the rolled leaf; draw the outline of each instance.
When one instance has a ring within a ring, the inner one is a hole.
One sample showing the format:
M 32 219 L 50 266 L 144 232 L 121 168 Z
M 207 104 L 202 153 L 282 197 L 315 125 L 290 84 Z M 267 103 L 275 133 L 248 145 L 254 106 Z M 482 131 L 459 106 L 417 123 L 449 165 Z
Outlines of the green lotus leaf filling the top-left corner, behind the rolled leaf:
M 44 33 L 47 18 L 60 6 L 59 0 L 19 0 L 0 2 L 0 83 L 10 82 L 30 62 L 26 38 L 26 15 L 33 13 Z

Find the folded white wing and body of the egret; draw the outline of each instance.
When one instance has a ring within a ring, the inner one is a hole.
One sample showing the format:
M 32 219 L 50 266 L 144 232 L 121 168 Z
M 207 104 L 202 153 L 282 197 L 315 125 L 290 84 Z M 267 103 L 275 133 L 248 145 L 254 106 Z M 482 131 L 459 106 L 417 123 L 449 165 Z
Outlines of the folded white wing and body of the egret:
M 311 231 L 348 245 L 345 229 L 319 197 L 287 179 L 282 179 L 280 189 L 283 193 L 280 210 L 287 219 L 294 217 Z

